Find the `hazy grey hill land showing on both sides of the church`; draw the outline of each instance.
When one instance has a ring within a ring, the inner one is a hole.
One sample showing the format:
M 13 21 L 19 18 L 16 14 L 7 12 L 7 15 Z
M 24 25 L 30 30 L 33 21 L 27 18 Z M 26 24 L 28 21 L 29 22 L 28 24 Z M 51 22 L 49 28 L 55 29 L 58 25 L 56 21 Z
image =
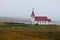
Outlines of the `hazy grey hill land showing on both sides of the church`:
M 29 18 L 10 18 L 10 17 L 0 17 L 0 22 L 15 22 L 15 23 L 26 23 L 31 24 L 31 19 Z M 52 23 L 60 25 L 60 21 L 52 21 Z

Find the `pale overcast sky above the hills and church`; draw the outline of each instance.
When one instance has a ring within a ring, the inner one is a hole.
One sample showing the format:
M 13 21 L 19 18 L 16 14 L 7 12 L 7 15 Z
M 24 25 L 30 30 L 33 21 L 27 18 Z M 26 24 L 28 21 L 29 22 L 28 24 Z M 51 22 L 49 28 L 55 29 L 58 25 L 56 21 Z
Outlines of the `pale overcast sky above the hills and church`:
M 60 0 L 0 0 L 0 16 L 30 18 L 32 8 L 36 16 L 60 20 Z

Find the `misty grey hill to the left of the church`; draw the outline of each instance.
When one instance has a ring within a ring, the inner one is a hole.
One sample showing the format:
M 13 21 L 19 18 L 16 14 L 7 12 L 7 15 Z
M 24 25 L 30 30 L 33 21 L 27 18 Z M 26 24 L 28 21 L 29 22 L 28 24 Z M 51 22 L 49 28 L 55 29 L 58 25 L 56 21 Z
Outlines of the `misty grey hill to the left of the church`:
M 29 23 L 30 19 L 25 18 L 9 18 L 9 17 L 0 17 L 0 22 L 16 22 L 16 23 Z

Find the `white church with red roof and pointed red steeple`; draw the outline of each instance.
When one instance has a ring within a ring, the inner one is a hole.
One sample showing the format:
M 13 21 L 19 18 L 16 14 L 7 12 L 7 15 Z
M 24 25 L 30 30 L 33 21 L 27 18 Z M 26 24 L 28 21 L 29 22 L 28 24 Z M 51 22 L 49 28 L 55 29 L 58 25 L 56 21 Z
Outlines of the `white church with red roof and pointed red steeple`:
M 47 16 L 36 16 L 34 13 L 34 9 L 32 9 L 31 23 L 38 25 L 42 25 L 42 24 L 48 25 L 51 24 L 51 19 L 49 19 Z

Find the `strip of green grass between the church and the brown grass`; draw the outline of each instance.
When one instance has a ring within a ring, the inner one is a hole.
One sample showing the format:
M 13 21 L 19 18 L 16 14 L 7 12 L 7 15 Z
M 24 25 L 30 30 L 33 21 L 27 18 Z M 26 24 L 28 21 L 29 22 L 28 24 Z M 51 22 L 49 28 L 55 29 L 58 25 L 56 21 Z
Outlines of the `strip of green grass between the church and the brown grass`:
M 2 29 L 34 29 L 34 30 L 53 30 L 53 31 L 58 31 L 60 30 L 59 25 L 6 25 L 6 26 L 1 26 L 0 28 Z

